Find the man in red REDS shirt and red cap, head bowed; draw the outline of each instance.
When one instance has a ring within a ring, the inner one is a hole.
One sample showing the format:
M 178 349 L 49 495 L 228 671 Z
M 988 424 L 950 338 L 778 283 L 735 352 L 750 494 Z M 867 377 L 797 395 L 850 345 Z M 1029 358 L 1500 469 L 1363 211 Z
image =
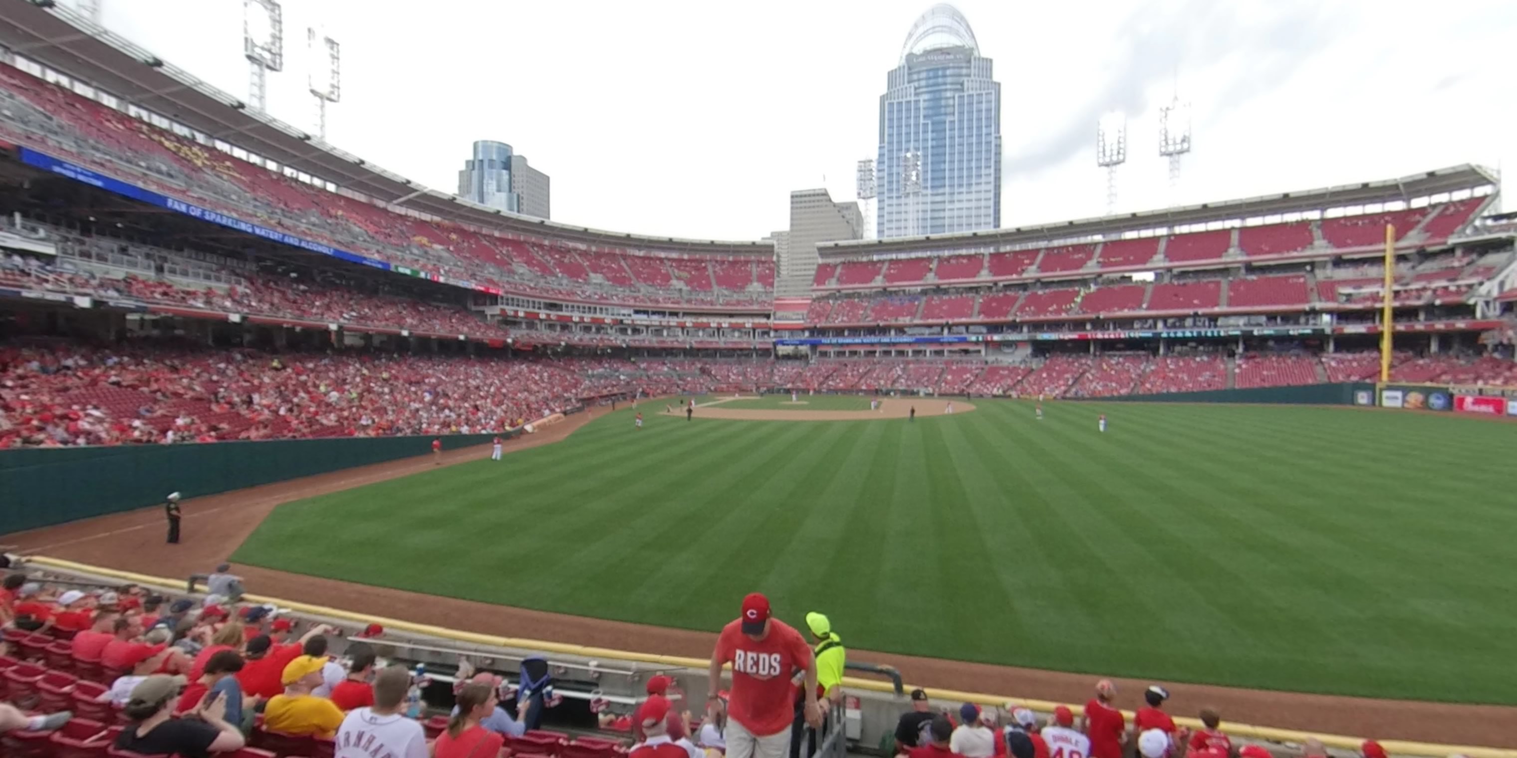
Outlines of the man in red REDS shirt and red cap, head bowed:
M 769 599 L 743 597 L 742 617 L 722 628 L 707 678 L 707 717 L 713 717 L 722 664 L 733 664 L 733 694 L 727 703 L 727 758 L 783 758 L 790 749 L 795 699 L 790 678 L 806 672 L 806 723 L 816 728 L 816 662 L 793 626 L 769 617 Z

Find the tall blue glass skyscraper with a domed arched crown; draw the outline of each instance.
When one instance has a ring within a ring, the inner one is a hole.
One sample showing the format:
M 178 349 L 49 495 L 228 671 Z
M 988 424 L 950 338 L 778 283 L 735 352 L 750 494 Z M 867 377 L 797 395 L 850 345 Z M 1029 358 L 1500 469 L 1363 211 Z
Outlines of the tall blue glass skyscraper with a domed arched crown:
M 1001 85 L 950 5 L 906 35 L 880 96 L 875 171 L 881 238 L 1001 226 Z

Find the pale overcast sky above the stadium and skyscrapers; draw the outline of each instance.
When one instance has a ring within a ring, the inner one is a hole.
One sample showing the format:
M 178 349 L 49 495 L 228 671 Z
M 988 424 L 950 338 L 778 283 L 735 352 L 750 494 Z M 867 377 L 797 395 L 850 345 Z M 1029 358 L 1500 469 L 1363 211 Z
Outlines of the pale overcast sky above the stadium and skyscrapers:
M 247 96 L 241 0 L 100 0 Z M 554 220 L 754 240 L 792 190 L 854 197 L 921 0 L 285 0 L 270 112 L 314 130 L 305 29 L 343 45 L 332 144 L 455 191 L 473 139 L 552 177 Z M 1120 211 L 1517 162 L 1517 2 L 959 0 L 1001 82 L 1001 223 L 1100 215 L 1095 121 L 1129 118 Z M 1157 108 L 1194 109 L 1179 186 Z M 1512 167 L 1517 170 L 1517 165 Z

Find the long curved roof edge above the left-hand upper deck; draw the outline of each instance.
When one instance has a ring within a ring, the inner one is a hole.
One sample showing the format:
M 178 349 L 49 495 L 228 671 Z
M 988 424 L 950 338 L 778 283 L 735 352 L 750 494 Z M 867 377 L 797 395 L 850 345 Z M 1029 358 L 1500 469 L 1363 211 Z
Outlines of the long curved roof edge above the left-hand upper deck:
M 762 241 L 684 240 L 561 224 L 496 211 L 428 190 L 325 144 L 316 135 L 250 109 L 241 99 L 202 82 L 56 0 L 0 3 L 0 45 L 212 139 L 234 144 L 378 202 L 507 233 L 552 236 L 596 246 L 708 255 L 774 252 L 772 243 Z

